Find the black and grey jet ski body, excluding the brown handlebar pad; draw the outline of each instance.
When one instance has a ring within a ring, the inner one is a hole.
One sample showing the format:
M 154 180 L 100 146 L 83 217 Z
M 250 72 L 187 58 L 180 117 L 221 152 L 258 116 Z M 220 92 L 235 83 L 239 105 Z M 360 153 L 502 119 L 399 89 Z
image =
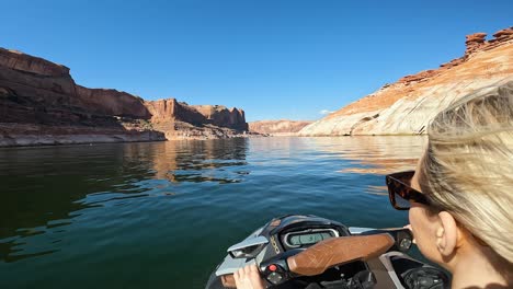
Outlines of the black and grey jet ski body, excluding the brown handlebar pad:
M 403 234 L 407 230 L 385 231 Z M 318 242 L 380 232 L 384 230 L 347 228 L 340 222 L 311 215 L 274 218 L 227 250 L 228 255 L 210 275 L 206 289 L 233 288 L 232 274 L 250 264 L 258 265 L 267 288 L 449 288 L 449 277 L 445 271 L 406 254 L 412 241 L 409 232 L 410 238 L 399 235 L 397 245 L 376 258 L 338 264 L 320 275 L 264 274 L 266 264 L 297 254 Z

